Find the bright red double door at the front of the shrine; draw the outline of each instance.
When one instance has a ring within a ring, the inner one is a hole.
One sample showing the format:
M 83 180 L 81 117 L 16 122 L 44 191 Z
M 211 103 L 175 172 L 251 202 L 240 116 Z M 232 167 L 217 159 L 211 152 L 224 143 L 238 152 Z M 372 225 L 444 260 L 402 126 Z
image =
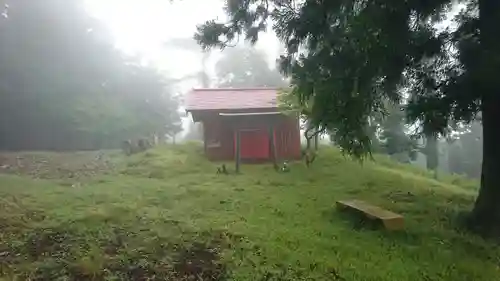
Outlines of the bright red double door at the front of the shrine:
M 241 159 L 269 159 L 269 133 L 267 130 L 240 130 Z M 236 141 L 236 135 L 235 135 Z M 235 142 L 236 149 L 236 142 Z M 236 152 L 236 151 L 235 151 Z

